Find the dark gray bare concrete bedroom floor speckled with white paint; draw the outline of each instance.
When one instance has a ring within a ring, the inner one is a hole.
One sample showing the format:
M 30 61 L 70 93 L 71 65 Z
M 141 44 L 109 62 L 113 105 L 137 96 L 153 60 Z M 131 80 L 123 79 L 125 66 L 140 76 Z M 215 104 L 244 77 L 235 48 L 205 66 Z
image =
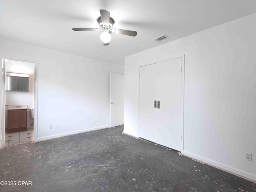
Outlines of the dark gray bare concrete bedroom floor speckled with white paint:
M 0 186 L 0 191 L 256 192 L 254 182 L 122 130 L 117 126 L 6 146 L 0 150 L 0 181 L 16 185 Z

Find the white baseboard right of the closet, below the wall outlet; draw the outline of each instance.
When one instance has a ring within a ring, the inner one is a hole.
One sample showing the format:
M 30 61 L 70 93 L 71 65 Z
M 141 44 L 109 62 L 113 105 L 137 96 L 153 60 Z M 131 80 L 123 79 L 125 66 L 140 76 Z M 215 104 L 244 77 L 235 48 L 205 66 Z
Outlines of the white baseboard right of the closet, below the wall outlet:
M 242 177 L 247 178 L 249 180 L 252 180 L 254 182 L 256 181 L 256 175 L 254 175 L 254 174 L 245 172 L 243 170 L 240 170 L 240 169 L 237 169 L 237 168 L 234 168 L 234 167 L 227 166 L 225 164 L 210 160 L 208 158 L 204 158 L 202 156 L 198 156 L 196 154 L 193 154 L 193 153 L 190 153 L 190 152 L 187 152 L 187 151 L 182 151 L 182 154 L 184 154 L 184 155 L 186 155 L 190 158 L 205 162 L 206 164 L 209 164 L 209 165 L 214 166 L 216 168 L 222 169 L 224 171 L 236 174 L 238 176 L 242 176 Z

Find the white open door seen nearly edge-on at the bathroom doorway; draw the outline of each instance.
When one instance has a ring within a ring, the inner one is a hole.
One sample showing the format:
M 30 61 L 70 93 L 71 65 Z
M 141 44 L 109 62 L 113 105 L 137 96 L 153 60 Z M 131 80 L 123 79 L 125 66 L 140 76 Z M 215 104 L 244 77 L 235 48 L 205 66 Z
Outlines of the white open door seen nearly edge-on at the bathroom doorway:
M 2 143 L 1 143 L 1 146 L 4 145 L 4 142 L 5 142 L 5 60 L 3 59 L 2 60 L 2 101 L 1 101 L 1 104 L 2 104 L 2 108 L 1 108 L 1 111 L 2 111 L 2 134 L 1 134 L 1 138 L 2 138 Z

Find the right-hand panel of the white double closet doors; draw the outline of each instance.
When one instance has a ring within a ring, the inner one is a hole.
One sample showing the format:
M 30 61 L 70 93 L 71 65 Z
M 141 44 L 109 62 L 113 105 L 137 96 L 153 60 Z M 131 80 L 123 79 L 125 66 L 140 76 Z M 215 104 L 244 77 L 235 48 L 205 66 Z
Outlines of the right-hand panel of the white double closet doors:
M 156 96 L 160 108 L 156 113 L 157 143 L 181 150 L 181 58 L 157 64 Z

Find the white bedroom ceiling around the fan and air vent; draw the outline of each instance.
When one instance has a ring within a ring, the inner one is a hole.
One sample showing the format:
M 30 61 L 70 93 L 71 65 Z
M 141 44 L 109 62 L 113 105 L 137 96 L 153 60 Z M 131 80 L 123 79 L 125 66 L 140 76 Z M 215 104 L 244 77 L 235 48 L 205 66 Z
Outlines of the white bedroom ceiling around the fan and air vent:
M 114 28 L 100 47 L 100 9 Z M 0 38 L 124 65 L 124 57 L 256 13 L 256 0 L 0 0 Z M 154 42 L 162 34 L 170 38 Z

